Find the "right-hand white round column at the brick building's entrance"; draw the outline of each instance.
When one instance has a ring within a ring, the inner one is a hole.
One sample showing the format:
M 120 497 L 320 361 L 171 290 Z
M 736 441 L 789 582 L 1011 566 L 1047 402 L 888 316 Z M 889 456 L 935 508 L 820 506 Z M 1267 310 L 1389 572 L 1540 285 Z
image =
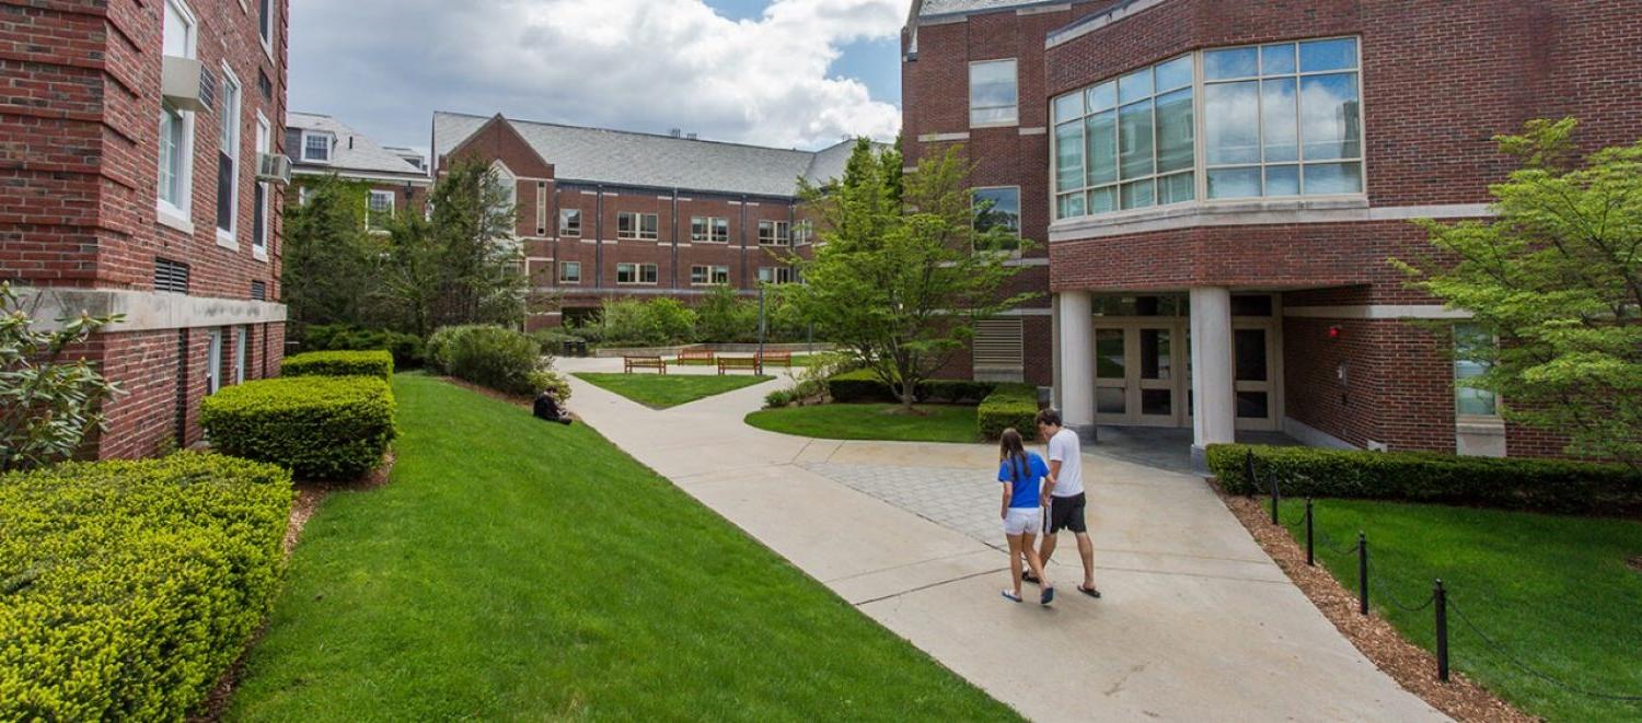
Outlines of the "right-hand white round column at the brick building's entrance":
M 1235 441 L 1236 390 L 1232 379 L 1232 290 L 1192 289 L 1192 462 L 1209 444 Z

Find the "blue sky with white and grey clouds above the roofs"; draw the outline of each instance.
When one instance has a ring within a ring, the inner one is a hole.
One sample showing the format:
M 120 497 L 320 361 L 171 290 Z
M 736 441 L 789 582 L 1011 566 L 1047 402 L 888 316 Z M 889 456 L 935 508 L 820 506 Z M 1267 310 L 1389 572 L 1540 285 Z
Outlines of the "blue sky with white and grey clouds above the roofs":
M 908 0 L 292 0 L 291 108 L 425 149 L 433 110 L 823 148 L 900 130 Z

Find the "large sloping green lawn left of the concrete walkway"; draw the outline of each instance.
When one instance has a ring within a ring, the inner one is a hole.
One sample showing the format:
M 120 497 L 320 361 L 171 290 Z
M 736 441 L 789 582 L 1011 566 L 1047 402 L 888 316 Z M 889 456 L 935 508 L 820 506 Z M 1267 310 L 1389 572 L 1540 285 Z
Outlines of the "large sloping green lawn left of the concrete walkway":
M 591 428 L 394 393 L 391 482 L 309 523 L 230 718 L 1016 718 Z

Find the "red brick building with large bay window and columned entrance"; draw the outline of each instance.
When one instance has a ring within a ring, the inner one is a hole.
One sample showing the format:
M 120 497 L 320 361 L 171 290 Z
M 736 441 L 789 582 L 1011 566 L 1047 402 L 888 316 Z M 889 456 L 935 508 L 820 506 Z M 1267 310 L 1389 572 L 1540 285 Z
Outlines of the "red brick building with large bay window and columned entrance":
M 1456 393 L 1489 339 L 1386 259 L 1429 248 L 1414 218 L 1488 215 L 1494 134 L 1642 138 L 1637 48 L 1627 0 L 915 0 L 905 149 L 964 143 L 975 185 L 1018 189 L 1053 293 L 1026 375 L 1079 428 L 1557 454 Z

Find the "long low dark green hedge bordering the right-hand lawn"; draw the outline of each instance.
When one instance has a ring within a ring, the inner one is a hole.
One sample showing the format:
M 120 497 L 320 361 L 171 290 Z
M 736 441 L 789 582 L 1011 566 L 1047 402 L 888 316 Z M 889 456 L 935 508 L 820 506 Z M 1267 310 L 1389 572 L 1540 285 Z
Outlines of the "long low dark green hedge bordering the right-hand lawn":
M 1254 454 L 1256 480 L 1245 471 Z M 1212 444 L 1209 469 L 1238 495 L 1358 497 L 1507 510 L 1626 513 L 1642 510 L 1642 475 L 1617 464 Z

